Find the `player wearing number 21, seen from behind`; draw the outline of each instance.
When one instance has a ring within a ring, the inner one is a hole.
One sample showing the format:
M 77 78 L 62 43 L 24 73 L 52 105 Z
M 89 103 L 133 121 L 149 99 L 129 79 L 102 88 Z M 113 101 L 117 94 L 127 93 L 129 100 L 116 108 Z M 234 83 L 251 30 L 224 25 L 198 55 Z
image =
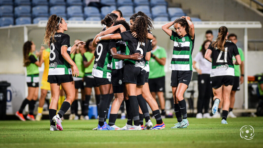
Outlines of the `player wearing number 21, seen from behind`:
M 241 64 L 241 58 L 236 44 L 227 40 L 227 30 L 228 29 L 225 26 L 221 26 L 218 29 L 218 37 L 209 45 L 205 52 L 205 58 L 209 62 L 212 62 L 212 70 L 210 74 L 214 93 L 212 113 L 215 114 L 217 112 L 219 102 L 223 101 L 222 124 L 227 124 L 226 118 L 230 104 L 229 96 L 234 84 L 235 76 L 234 64 Z M 235 56 L 236 61 L 232 60 L 233 56 Z

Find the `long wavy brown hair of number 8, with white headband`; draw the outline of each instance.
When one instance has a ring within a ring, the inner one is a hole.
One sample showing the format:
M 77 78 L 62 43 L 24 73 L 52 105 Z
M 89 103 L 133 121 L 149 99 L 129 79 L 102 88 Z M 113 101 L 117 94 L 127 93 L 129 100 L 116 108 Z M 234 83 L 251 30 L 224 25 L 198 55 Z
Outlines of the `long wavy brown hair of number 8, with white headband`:
M 43 44 L 47 45 L 50 38 L 52 40 L 52 43 L 56 42 L 54 38 L 54 34 L 59 29 L 59 25 L 58 25 L 59 23 L 62 23 L 62 17 L 58 17 L 56 14 L 52 14 L 52 16 L 49 17 L 46 26 L 46 32 L 44 35 Z

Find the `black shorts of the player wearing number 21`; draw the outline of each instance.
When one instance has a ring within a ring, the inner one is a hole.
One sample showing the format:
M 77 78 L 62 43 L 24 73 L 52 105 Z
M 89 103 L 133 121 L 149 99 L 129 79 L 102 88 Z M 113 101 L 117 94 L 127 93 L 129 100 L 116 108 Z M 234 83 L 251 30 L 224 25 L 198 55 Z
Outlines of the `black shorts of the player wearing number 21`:
M 225 86 L 234 85 L 235 76 L 231 75 L 222 75 L 222 76 L 213 76 L 211 77 L 212 87 L 220 88 L 223 84 Z

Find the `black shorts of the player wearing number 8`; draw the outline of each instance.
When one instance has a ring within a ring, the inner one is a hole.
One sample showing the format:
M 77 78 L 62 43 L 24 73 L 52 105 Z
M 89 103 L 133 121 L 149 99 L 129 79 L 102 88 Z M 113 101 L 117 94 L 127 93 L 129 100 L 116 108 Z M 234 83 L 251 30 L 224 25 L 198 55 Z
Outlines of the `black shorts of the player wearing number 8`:
M 72 82 L 73 76 L 71 74 L 64 74 L 64 75 L 48 75 L 48 82 L 49 83 L 67 83 Z

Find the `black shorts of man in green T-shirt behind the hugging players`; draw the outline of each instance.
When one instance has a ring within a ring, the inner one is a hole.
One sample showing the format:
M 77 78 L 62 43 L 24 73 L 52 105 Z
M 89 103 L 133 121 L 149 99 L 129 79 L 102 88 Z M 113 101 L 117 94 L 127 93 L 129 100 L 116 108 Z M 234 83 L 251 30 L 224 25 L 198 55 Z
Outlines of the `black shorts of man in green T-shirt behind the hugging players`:
M 149 89 L 150 92 L 165 92 L 165 76 L 149 79 Z

